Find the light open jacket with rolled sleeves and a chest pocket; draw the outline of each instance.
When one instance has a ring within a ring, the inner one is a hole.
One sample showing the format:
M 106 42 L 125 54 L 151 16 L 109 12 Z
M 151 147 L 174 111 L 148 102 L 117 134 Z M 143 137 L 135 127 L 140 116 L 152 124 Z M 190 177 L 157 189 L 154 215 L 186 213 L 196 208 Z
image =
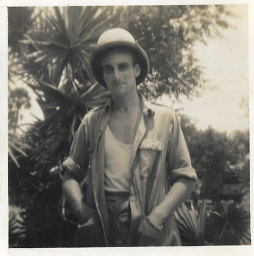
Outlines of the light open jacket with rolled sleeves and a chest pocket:
M 128 246 L 181 245 L 173 215 L 155 227 L 147 217 L 160 204 L 178 178 L 196 180 L 180 123 L 167 106 L 141 96 L 143 115 L 131 153 L 131 225 Z M 97 209 L 97 223 L 108 245 L 108 211 L 104 193 L 104 130 L 111 118 L 111 100 L 84 116 L 64 161 L 67 172 L 78 182 L 88 175 L 86 203 Z M 94 218 L 95 219 L 95 218 Z M 96 232 L 95 232 L 96 233 Z M 99 232 L 97 232 L 99 233 Z

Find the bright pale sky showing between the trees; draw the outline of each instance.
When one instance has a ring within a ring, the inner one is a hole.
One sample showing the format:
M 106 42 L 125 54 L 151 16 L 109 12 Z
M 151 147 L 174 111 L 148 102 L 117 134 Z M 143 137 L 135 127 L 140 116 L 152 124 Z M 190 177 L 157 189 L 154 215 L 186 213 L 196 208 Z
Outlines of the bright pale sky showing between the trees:
M 222 30 L 223 38 L 208 39 L 207 45 L 197 44 L 195 56 L 204 66 L 204 76 L 215 86 L 213 90 L 201 93 L 192 101 L 181 96 L 183 113 L 191 118 L 199 130 L 208 126 L 218 131 L 231 133 L 248 129 L 248 106 L 240 107 L 240 102 L 248 102 L 248 6 L 231 5 L 238 16 L 228 18 L 233 28 Z M 31 123 L 34 118 L 29 112 L 43 118 L 43 113 L 31 95 L 33 107 L 26 111 L 20 123 Z M 167 96 L 161 102 L 171 106 Z

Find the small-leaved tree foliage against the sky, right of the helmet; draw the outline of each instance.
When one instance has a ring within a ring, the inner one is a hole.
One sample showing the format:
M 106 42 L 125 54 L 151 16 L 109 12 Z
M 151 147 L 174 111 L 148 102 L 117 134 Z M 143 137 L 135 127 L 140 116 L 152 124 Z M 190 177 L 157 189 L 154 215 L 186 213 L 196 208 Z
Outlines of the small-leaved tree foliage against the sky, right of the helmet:
M 221 37 L 230 26 L 226 6 L 129 6 L 126 28 L 145 49 L 150 74 L 140 90 L 148 98 L 166 94 L 199 97 L 210 88 L 203 79 L 203 68 L 195 58 L 198 41 Z

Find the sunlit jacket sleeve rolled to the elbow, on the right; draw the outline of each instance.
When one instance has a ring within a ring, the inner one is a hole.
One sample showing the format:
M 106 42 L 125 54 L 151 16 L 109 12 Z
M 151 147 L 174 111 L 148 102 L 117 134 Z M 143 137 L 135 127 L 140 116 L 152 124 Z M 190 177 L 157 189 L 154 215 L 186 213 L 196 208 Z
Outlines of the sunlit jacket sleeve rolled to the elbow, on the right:
M 178 178 L 196 181 L 196 172 L 191 166 L 190 154 L 176 113 L 173 114 L 171 121 L 167 159 L 171 185 Z

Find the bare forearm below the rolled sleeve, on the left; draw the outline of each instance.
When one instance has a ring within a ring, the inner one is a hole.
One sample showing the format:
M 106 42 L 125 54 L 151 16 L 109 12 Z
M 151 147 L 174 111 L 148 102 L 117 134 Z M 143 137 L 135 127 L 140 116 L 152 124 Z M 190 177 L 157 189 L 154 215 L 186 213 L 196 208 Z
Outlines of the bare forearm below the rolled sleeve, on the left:
M 92 217 L 94 210 L 84 203 L 79 183 L 76 178 L 68 172 L 64 173 L 63 192 L 78 217 L 79 223 L 82 224 L 88 222 L 89 218 Z

